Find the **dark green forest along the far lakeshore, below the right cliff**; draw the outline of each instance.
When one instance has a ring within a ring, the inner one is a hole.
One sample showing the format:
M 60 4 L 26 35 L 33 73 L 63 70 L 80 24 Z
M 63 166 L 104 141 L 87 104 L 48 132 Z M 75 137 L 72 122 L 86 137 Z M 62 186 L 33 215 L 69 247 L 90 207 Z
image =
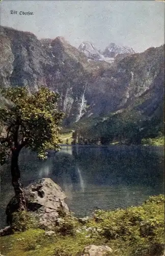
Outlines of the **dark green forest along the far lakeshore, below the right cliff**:
M 163 145 L 163 126 L 163 113 L 149 119 L 135 110 L 123 110 L 120 113 L 111 113 L 106 118 L 95 118 L 81 123 L 77 129 L 77 141 L 85 144 L 100 142 L 101 144 Z M 144 140 L 149 138 L 156 139 L 157 143 Z

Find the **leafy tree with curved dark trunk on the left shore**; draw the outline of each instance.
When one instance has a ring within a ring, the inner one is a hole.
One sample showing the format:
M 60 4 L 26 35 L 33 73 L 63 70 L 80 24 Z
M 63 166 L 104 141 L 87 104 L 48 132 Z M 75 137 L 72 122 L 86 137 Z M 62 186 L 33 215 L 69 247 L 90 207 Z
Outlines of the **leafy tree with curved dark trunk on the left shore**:
M 48 150 L 60 149 L 60 123 L 63 113 L 57 109 L 59 94 L 41 87 L 30 94 L 27 87 L 1 89 L 1 95 L 10 100 L 10 106 L 0 107 L 0 123 L 6 132 L 0 134 L 0 163 L 11 157 L 11 176 L 18 209 L 26 208 L 20 185 L 18 157 L 23 147 L 46 159 Z

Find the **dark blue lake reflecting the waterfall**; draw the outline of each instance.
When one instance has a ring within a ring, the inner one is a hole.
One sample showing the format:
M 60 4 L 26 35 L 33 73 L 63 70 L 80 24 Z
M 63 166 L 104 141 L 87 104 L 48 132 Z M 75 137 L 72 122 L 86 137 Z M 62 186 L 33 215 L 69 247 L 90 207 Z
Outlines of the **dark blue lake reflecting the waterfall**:
M 62 146 L 46 161 L 23 150 L 19 157 L 21 182 L 28 185 L 49 177 L 67 195 L 66 203 L 77 217 L 95 209 L 139 205 L 149 196 L 164 194 L 164 150 L 146 146 Z M 13 196 L 10 167 L 1 170 L 0 227 Z

